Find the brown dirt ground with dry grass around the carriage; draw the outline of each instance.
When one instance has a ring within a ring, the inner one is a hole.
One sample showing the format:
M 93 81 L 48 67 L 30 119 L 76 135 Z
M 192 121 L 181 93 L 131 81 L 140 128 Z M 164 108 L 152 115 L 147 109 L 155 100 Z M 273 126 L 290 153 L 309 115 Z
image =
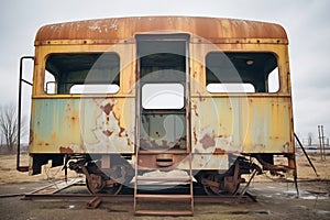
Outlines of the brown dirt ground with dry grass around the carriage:
M 278 178 L 266 174 L 257 176 L 249 188 L 257 197 L 257 202 L 195 204 L 194 217 L 174 219 L 330 219 L 330 155 L 326 161 L 321 161 L 317 152 L 309 153 L 309 156 L 318 176 L 306 157 L 297 152 L 299 197 L 289 176 Z M 21 200 L 21 196 L 6 196 L 25 194 L 63 179 L 61 169 L 46 165 L 42 175 L 28 176 L 15 170 L 14 155 L 0 155 L 0 219 L 164 219 L 134 217 L 132 202 L 102 202 L 98 209 L 86 209 L 87 201 L 82 200 L 30 201 Z M 77 174 L 70 172 L 69 176 L 77 177 Z M 85 187 L 81 190 L 86 190 Z

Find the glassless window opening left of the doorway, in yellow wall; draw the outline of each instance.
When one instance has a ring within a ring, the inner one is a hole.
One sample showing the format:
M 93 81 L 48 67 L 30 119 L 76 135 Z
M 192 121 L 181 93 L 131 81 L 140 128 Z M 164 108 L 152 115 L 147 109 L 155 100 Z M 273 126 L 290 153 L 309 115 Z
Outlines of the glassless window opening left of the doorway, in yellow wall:
M 120 61 L 114 53 L 52 54 L 46 61 L 46 94 L 116 94 Z

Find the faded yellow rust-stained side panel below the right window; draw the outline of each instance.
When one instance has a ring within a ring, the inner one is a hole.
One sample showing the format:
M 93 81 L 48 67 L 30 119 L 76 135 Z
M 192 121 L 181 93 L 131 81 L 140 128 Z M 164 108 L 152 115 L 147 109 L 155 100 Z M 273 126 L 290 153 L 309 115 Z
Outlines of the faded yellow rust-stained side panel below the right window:
M 285 97 L 195 97 L 193 152 L 293 153 L 290 108 Z

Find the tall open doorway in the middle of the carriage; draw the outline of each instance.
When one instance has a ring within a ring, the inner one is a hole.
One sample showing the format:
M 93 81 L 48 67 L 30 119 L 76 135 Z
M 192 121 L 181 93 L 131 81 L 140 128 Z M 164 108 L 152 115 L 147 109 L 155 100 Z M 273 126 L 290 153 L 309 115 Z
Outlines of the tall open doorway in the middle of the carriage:
M 141 150 L 187 150 L 188 37 L 136 36 Z

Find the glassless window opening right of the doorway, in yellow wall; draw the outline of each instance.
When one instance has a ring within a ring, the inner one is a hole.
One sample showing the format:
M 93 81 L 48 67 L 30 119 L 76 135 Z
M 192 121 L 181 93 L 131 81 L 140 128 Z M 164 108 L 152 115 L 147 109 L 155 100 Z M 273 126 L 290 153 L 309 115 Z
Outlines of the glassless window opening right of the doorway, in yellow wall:
M 206 57 L 209 92 L 276 92 L 277 59 L 273 53 L 209 53 Z

